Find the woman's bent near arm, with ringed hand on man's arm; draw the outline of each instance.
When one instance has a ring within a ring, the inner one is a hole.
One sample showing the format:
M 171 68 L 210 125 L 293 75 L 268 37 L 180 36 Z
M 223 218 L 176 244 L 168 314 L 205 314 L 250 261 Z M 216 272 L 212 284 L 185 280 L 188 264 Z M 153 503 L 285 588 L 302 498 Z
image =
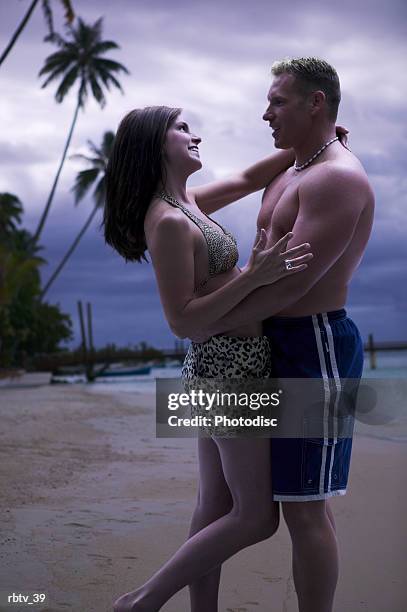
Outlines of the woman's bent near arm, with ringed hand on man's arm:
M 291 234 L 287 234 L 272 248 L 264 249 L 266 232 L 263 230 L 241 274 L 216 291 L 195 297 L 191 224 L 176 211 L 163 216 L 149 236 L 148 246 L 161 302 L 171 330 L 181 338 L 188 337 L 198 321 L 202 328 L 210 326 L 257 287 L 307 268 L 305 262 L 312 257 L 309 245 L 285 251 L 291 237 Z M 293 264 L 291 270 L 286 269 L 287 258 Z

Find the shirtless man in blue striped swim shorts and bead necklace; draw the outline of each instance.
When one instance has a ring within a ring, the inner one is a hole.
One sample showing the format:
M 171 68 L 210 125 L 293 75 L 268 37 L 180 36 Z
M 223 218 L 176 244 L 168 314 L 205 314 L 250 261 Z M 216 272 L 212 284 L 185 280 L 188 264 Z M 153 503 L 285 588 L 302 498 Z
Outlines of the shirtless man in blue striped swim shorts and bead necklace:
M 301 274 L 258 289 L 205 331 L 212 335 L 248 319 L 264 320 L 274 375 L 321 378 L 326 415 L 332 388 L 340 390 L 341 379 L 362 372 L 360 335 L 343 307 L 371 232 L 374 198 L 360 162 L 336 138 L 335 69 L 323 60 L 298 58 L 275 63 L 272 73 L 263 119 L 275 146 L 292 148 L 296 161 L 266 188 L 257 225 L 272 244 L 292 231 L 290 246 L 309 242 L 314 259 Z M 332 610 L 338 550 L 328 499 L 346 491 L 351 446 L 350 438 L 328 434 L 271 442 L 273 499 L 282 503 L 292 538 L 300 612 Z

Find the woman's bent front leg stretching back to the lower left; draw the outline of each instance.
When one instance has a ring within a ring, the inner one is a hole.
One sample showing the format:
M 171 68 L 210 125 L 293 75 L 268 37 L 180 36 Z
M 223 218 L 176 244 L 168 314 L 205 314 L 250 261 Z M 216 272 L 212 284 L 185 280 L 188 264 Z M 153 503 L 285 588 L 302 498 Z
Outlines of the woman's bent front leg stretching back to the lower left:
M 272 502 L 270 440 L 216 438 L 233 499 L 231 511 L 187 540 L 142 587 L 117 600 L 115 612 L 156 612 L 170 597 L 278 527 Z

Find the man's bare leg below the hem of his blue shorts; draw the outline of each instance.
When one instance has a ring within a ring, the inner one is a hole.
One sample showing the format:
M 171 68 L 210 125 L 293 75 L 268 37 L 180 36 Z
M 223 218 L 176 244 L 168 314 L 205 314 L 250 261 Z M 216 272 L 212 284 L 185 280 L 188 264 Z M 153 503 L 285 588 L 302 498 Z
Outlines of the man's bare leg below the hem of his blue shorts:
M 299 612 L 332 612 L 338 581 L 338 544 L 327 502 L 283 502 L 293 545 Z

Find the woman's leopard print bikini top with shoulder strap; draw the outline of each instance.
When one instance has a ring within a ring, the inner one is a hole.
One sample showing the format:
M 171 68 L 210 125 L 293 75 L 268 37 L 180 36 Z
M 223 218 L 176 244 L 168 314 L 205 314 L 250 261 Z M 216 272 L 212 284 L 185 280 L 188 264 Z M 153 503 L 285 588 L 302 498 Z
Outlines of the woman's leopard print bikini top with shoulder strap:
M 214 221 L 214 219 L 211 219 L 208 215 L 203 213 L 205 217 L 219 227 L 219 229 L 215 229 L 213 225 L 210 225 L 204 221 L 204 219 L 194 215 L 186 206 L 183 206 L 178 200 L 167 193 L 161 192 L 157 195 L 162 200 L 168 202 L 168 204 L 171 204 L 171 206 L 179 208 L 199 227 L 206 240 L 208 246 L 209 277 L 200 283 L 198 287 L 195 287 L 195 291 L 206 285 L 211 276 L 216 276 L 216 274 L 220 274 L 221 272 L 227 272 L 235 267 L 239 259 L 239 251 L 237 250 L 237 242 L 233 234 L 225 230 L 225 228 Z

